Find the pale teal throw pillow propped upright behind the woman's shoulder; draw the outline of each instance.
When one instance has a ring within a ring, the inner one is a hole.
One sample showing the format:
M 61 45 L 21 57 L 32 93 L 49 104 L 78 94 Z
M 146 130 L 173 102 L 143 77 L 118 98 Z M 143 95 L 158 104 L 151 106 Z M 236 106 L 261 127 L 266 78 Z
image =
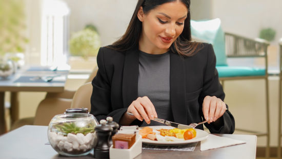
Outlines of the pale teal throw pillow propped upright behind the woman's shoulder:
M 219 18 L 208 21 L 191 20 L 191 34 L 213 45 L 216 66 L 227 66 L 225 54 L 225 37 Z

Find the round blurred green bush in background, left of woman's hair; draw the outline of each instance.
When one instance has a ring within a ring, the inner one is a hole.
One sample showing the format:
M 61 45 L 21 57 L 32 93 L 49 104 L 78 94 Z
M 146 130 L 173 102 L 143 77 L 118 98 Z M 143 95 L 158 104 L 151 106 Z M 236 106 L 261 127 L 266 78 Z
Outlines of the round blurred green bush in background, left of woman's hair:
M 69 41 L 70 53 L 73 56 L 82 56 L 87 59 L 89 56 L 96 56 L 101 46 L 100 37 L 93 26 L 72 34 Z

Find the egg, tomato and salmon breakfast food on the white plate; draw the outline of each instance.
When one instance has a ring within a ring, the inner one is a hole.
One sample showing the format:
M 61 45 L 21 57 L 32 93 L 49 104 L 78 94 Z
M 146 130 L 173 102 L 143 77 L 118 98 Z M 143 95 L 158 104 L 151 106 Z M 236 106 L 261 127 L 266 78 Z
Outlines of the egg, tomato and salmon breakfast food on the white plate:
M 159 129 L 154 132 L 150 127 L 144 127 L 140 130 L 139 134 L 142 135 L 142 138 L 148 138 L 149 140 L 157 141 L 183 141 L 190 140 L 191 138 L 196 137 L 196 130 L 191 129 Z

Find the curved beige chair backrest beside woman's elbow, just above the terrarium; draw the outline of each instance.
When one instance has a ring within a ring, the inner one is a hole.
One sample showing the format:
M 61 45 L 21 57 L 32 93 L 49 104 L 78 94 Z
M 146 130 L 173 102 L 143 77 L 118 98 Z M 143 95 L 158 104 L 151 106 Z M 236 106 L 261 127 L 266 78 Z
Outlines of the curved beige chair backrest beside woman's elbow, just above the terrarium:
M 88 82 L 80 86 L 77 91 L 74 93 L 73 100 L 71 103 L 71 108 L 88 108 L 90 111 L 91 104 L 90 98 L 92 94 L 92 85 L 91 82 Z

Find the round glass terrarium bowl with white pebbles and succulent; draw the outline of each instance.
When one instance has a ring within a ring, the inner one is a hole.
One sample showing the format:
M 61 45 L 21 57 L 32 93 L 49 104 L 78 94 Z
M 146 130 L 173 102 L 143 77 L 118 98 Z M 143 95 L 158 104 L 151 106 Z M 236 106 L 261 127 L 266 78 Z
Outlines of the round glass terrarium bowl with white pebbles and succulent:
M 48 127 L 48 140 L 54 150 L 65 156 L 82 156 L 97 143 L 96 118 L 87 113 L 55 115 Z

